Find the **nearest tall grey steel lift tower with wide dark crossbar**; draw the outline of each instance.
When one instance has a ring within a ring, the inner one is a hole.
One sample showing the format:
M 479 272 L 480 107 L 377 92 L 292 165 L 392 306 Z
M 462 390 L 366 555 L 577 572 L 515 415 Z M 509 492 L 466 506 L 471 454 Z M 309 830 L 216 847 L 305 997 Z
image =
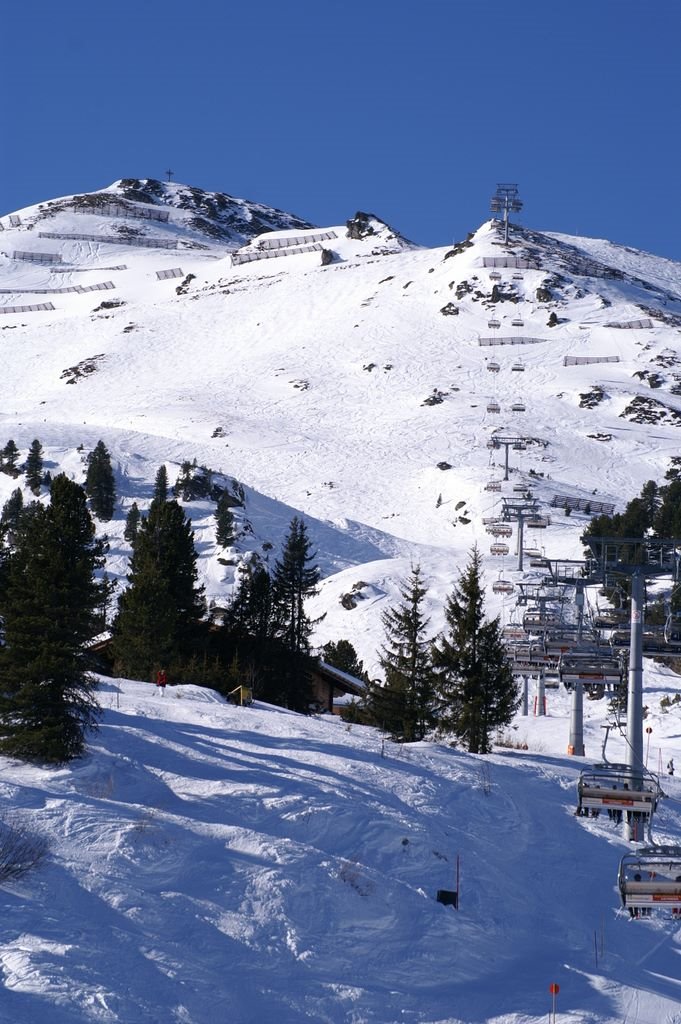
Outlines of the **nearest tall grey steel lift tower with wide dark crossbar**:
M 679 580 L 681 540 L 628 537 L 587 537 L 594 558 L 592 569 L 604 583 L 620 574 L 631 580 L 631 639 L 627 700 L 627 766 L 632 787 L 643 784 L 643 605 L 647 577 Z M 592 580 L 589 582 L 593 582 Z M 638 784 L 637 784 L 638 783 Z M 630 838 L 632 836 L 630 823 Z

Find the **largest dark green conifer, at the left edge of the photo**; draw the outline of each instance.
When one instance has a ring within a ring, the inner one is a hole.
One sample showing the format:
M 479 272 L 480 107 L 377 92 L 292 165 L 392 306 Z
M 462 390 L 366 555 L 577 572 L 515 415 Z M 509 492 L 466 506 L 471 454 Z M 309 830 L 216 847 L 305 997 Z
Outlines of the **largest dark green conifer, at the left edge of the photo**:
M 100 546 L 82 487 L 60 474 L 49 506 L 19 518 L 0 574 L 0 750 L 35 762 L 79 757 L 99 708 L 85 668 L 95 632 Z

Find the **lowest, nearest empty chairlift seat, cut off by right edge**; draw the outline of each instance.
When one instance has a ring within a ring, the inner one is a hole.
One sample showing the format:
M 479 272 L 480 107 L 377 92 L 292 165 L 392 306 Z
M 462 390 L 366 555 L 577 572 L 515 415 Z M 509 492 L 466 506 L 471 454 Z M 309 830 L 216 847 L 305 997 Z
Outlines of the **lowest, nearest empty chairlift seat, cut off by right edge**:
M 681 910 L 681 847 L 642 847 L 620 861 L 622 905 L 633 918 L 651 910 Z

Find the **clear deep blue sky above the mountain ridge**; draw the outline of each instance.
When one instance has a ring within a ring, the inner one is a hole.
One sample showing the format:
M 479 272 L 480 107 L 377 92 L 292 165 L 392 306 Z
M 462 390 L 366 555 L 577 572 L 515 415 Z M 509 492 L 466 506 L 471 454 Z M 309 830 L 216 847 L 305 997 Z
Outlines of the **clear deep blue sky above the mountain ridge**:
M 0 213 L 175 179 L 424 245 L 529 226 L 681 259 L 678 0 L 18 0 Z

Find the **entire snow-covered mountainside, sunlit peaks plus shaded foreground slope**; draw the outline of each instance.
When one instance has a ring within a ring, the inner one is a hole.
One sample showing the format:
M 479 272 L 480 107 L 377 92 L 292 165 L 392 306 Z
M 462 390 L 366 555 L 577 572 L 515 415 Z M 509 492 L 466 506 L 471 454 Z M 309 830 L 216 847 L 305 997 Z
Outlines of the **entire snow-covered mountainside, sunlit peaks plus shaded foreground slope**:
M 218 603 L 303 514 L 316 639 L 351 640 L 371 672 L 412 564 L 433 632 L 473 544 L 490 585 L 538 579 L 515 538 L 487 554 L 504 498 L 531 490 L 550 518 L 527 547 L 580 557 L 590 504 L 622 508 L 678 454 L 669 260 L 519 227 L 507 248 L 494 222 L 422 249 L 373 214 L 311 225 L 130 179 L 0 226 L 0 444 L 38 437 L 46 468 L 82 479 L 104 440 L 119 508 L 100 529 L 121 582 L 127 510 L 162 463 L 171 482 L 196 459 L 244 487 L 226 551 L 214 504 L 185 505 Z M 0 473 L 0 502 L 20 483 Z M 566 516 L 566 499 L 585 510 Z M 488 607 L 516 613 L 492 587 Z M 681 760 L 677 678 L 646 660 L 652 769 Z M 49 842 L 2 888 L 0 1020 L 538 1024 L 559 983 L 556 1020 L 681 1021 L 678 919 L 625 915 L 629 845 L 604 815 L 573 816 L 604 701 L 585 701 L 585 761 L 565 756 L 558 690 L 488 758 L 150 690 L 101 680 L 83 761 L 0 766 L 5 818 Z M 665 788 L 655 836 L 678 844 L 681 791 Z M 459 912 L 434 898 L 457 857 Z

